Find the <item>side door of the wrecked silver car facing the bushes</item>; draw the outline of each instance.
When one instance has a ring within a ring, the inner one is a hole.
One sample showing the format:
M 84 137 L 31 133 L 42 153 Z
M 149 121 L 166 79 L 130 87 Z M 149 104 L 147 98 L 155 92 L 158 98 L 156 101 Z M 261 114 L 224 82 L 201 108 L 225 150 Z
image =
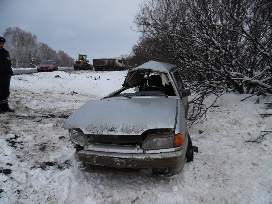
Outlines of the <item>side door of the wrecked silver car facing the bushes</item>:
M 182 99 L 182 102 L 184 103 L 184 107 L 185 107 L 185 116 L 187 118 L 187 115 L 188 115 L 188 111 L 189 111 L 189 104 L 188 104 L 188 95 L 186 96 L 184 94 L 184 85 L 183 85 L 183 82 L 182 82 L 182 78 L 181 78 L 181 74 L 180 74 L 180 71 L 178 69 L 174 70 L 172 72 L 173 74 L 173 78 L 174 78 L 174 81 L 176 83 L 176 86 L 178 88 L 178 91 L 179 91 L 179 94 L 180 94 L 180 97 Z M 189 94 L 190 95 L 190 94 Z

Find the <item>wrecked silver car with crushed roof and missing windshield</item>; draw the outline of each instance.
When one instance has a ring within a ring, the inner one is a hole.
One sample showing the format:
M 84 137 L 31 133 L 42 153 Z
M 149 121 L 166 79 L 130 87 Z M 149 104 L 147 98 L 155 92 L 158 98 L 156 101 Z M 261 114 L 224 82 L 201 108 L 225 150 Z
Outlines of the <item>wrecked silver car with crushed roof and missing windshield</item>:
M 130 70 L 121 89 L 88 101 L 66 120 L 76 160 L 87 172 L 177 174 L 193 160 L 190 94 L 173 64 L 150 61 Z

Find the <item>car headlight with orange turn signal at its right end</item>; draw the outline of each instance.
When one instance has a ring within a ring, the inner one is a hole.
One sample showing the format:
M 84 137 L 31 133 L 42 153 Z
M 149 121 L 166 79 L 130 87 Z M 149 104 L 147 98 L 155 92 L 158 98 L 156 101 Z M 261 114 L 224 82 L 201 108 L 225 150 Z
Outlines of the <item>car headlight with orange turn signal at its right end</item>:
M 143 150 L 158 150 L 158 149 L 168 149 L 182 146 L 183 144 L 183 134 L 174 133 L 159 133 L 150 134 L 147 136 L 142 144 Z

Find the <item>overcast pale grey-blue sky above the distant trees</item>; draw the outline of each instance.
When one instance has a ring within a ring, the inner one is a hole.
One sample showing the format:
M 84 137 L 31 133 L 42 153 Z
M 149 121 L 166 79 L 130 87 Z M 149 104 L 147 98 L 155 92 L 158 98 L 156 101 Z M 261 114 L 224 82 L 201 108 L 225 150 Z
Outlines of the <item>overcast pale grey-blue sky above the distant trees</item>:
M 0 35 L 19 27 L 72 58 L 127 54 L 139 39 L 133 23 L 144 0 L 0 0 Z

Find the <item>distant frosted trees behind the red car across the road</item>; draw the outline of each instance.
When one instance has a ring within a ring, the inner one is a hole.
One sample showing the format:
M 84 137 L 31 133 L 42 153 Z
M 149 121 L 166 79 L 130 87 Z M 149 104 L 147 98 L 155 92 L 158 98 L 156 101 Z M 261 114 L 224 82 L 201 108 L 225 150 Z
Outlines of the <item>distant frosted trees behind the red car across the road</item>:
M 56 52 L 47 44 L 38 42 L 37 36 L 18 27 L 7 28 L 3 33 L 5 49 L 11 56 L 14 68 L 38 65 L 42 60 L 54 60 L 58 67 L 72 66 L 74 59 L 62 50 Z

